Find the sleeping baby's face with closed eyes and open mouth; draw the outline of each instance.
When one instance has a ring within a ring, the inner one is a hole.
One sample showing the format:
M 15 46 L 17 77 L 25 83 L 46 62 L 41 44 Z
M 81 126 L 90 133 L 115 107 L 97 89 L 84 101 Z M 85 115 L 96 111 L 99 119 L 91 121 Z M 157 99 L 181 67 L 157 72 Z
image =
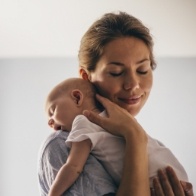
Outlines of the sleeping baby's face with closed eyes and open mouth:
M 47 100 L 46 113 L 48 125 L 54 130 L 71 131 L 78 108 L 71 96 L 61 95 L 53 100 Z

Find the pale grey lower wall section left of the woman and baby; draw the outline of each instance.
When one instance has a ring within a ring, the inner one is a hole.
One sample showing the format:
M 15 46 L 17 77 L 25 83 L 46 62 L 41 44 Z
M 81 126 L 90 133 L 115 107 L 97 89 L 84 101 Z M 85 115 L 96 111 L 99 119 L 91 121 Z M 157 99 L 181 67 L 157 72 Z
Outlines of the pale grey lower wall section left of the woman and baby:
M 70 76 L 78 76 L 73 60 L 0 60 L 0 195 L 39 194 L 38 150 L 52 132 L 44 114 L 45 97 Z

